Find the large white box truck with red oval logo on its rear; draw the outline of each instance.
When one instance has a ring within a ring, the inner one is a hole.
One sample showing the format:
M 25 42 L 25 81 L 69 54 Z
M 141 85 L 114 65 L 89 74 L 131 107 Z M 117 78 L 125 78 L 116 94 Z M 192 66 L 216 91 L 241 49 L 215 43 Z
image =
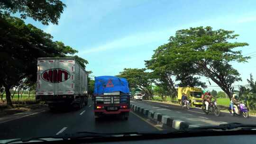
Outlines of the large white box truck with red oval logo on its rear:
M 88 103 L 88 73 L 74 58 L 38 58 L 36 99 L 50 109 Z

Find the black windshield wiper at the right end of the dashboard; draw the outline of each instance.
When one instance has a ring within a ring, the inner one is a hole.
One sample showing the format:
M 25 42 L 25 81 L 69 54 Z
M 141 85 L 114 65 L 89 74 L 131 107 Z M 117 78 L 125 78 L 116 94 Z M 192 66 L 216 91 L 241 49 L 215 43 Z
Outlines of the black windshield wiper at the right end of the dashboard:
M 186 131 L 193 131 L 193 130 L 232 130 L 240 128 L 242 130 L 252 130 L 256 129 L 256 125 L 248 125 L 248 124 L 241 124 L 241 123 L 227 123 L 227 124 L 220 124 L 219 126 L 201 126 L 201 127 L 194 127 L 189 128 Z

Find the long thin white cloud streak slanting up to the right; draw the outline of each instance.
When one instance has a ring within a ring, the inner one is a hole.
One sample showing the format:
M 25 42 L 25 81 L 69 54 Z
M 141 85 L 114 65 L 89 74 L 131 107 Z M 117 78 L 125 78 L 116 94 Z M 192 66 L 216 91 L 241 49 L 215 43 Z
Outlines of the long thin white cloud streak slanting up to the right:
M 218 29 L 218 28 L 223 28 L 225 26 L 229 26 L 230 24 L 235 25 L 235 23 L 233 22 L 245 23 L 245 22 L 252 22 L 252 21 L 256 21 L 256 16 L 245 17 L 241 15 L 238 18 L 234 16 L 227 16 L 227 17 L 220 17 L 220 18 L 214 18 L 214 19 L 207 19 L 204 21 L 190 23 L 183 26 L 179 26 L 179 27 L 169 27 L 169 28 L 161 29 L 159 31 L 134 33 L 133 35 L 124 36 L 122 38 L 110 41 L 104 45 L 83 48 L 85 50 L 81 51 L 79 54 L 97 53 L 97 52 L 102 52 L 110 49 L 145 45 L 152 42 L 163 42 L 164 44 L 165 42 L 167 42 L 169 36 L 174 35 L 175 31 L 178 29 L 198 27 L 198 26 L 211 26 L 214 29 Z M 221 25 L 219 25 L 219 22 L 221 22 Z

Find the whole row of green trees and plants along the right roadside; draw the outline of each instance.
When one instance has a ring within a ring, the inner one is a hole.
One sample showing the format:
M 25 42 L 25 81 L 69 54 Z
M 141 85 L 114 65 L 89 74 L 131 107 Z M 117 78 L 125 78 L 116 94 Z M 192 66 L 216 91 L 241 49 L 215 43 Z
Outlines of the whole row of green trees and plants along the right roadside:
M 247 80 L 249 88 L 234 89 L 234 83 L 242 81 L 232 63 L 247 63 L 249 56 L 242 54 L 246 42 L 237 42 L 238 34 L 232 30 L 212 27 L 190 27 L 171 34 L 169 42 L 158 46 L 151 59 L 145 61 L 144 69 L 125 68 L 119 77 L 128 79 L 130 90 L 139 89 L 145 99 L 177 101 L 178 87 L 201 87 L 207 90 L 200 77 L 214 81 L 221 91 L 211 93 L 219 105 L 228 107 L 234 93 L 256 109 L 256 82 L 253 76 Z M 238 49 L 239 48 L 239 49 Z M 211 85 L 210 81 L 209 84 Z M 159 97 L 153 97 L 153 96 Z

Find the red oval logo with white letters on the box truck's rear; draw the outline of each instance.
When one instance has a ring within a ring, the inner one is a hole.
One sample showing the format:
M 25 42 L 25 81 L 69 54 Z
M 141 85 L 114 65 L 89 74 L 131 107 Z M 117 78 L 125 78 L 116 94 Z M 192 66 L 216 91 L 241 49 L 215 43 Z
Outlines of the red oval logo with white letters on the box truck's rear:
M 43 80 L 59 83 L 66 81 L 70 78 L 70 73 L 64 69 L 49 69 L 41 74 Z

